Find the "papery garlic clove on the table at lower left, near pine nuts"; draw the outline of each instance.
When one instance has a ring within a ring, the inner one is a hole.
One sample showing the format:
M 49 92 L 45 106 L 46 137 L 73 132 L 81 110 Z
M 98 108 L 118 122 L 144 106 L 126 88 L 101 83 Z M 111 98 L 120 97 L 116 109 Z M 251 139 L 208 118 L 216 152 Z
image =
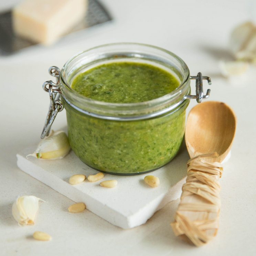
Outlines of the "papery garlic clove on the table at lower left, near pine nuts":
M 15 221 L 19 225 L 34 225 L 36 213 L 39 209 L 39 201 L 43 200 L 34 195 L 24 195 L 17 198 L 12 205 L 12 216 Z

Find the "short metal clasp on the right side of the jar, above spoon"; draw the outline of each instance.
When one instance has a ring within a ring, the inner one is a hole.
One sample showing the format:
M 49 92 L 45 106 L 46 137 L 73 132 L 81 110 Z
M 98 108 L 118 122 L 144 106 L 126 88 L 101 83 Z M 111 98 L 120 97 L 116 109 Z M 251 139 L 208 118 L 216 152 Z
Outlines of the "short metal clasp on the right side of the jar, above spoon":
M 203 79 L 208 81 L 208 84 L 211 85 L 212 81 L 209 76 L 202 76 L 202 73 L 199 72 L 197 76 L 190 76 L 190 79 L 195 79 L 195 93 L 196 95 L 186 95 L 184 99 L 196 99 L 198 103 L 201 103 L 203 99 L 207 99 L 210 96 L 210 89 L 207 89 L 206 95 L 203 92 Z

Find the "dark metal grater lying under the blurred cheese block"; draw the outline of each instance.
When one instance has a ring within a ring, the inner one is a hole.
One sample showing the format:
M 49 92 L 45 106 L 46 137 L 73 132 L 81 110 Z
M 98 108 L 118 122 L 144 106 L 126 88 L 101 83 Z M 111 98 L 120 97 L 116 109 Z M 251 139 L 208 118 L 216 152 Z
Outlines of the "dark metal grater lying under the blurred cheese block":
M 68 32 L 68 34 L 110 20 L 112 18 L 109 12 L 99 1 L 89 0 L 85 19 Z M 12 30 L 11 11 L 0 13 L 0 55 L 9 55 L 31 45 L 35 45 L 35 43 L 14 34 Z

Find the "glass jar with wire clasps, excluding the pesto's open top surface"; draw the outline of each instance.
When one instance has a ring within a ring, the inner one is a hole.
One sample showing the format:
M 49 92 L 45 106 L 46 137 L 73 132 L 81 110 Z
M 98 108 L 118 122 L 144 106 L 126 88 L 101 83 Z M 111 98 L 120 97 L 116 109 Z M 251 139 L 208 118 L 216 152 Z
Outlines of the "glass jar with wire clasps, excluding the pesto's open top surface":
M 140 62 L 174 75 L 180 86 L 162 97 L 139 103 L 107 103 L 87 98 L 71 88 L 72 81 L 95 66 L 109 62 Z M 185 131 L 185 110 L 190 98 L 201 102 L 201 73 L 191 77 L 177 55 L 145 44 L 117 43 L 94 47 L 72 57 L 61 72 L 51 67 L 57 83 L 46 81 L 51 107 L 44 137 L 63 107 L 66 109 L 68 139 L 75 154 L 88 166 L 111 174 L 150 172 L 171 161 L 178 153 Z M 196 79 L 196 95 L 190 94 L 190 79 Z M 53 95 L 55 98 L 53 98 Z M 58 100 L 58 97 L 61 99 Z

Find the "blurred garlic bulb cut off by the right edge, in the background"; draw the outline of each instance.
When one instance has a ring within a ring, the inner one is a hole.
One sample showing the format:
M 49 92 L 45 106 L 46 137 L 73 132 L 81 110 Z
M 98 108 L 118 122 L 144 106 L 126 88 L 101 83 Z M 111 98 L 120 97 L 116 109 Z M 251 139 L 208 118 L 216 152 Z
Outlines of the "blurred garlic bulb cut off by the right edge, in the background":
M 238 60 L 253 60 L 256 57 L 256 25 L 245 22 L 231 33 L 230 49 Z

